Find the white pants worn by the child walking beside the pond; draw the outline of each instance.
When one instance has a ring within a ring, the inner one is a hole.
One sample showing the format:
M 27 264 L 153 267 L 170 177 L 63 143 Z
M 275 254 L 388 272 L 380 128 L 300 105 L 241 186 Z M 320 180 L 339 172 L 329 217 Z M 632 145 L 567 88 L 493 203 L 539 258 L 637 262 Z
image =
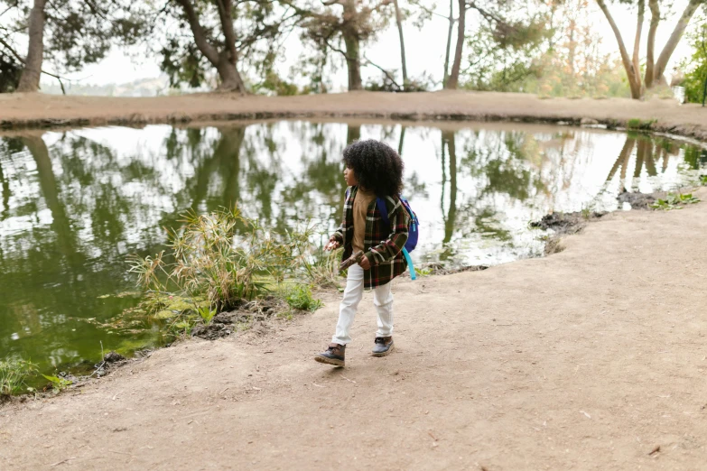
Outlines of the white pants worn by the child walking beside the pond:
M 390 284 L 387 282 L 373 289 L 373 304 L 378 312 L 376 337 L 393 335 L 393 293 L 390 292 Z M 346 279 L 344 299 L 341 300 L 339 307 L 336 335 L 331 337 L 332 343 L 346 345 L 351 341 L 349 333 L 361 298 L 363 298 L 363 268 L 360 265 L 351 265 Z

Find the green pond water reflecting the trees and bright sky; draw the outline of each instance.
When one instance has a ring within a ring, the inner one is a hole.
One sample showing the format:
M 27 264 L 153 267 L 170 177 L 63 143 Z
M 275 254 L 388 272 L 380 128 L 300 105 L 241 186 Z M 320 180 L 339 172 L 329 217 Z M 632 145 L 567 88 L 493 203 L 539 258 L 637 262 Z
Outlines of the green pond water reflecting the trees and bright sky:
M 541 254 L 528 222 L 618 209 L 622 189 L 696 179 L 704 150 L 665 138 L 544 125 L 221 123 L 105 127 L 0 138 L 0 358 L 43 371 L 164 341 L 157 324 L 107 323 L 132 307 L 128 254 L 163 248 L 179 214 L 238 201 L 283 230 L 340 219 L 340 155 L 383 139 L 405 159 L 420 217 L 417 263 L 495 264 Z M 325 236 L 325 235 L 324 235 Z M 119 293 L 119 296 L 116 296 Z M 110 295 L 110 296 L 106 296 Z M 88 319 L 88 321 L 87 321 Z M 102 326 L 103 325 L 103 326 Z

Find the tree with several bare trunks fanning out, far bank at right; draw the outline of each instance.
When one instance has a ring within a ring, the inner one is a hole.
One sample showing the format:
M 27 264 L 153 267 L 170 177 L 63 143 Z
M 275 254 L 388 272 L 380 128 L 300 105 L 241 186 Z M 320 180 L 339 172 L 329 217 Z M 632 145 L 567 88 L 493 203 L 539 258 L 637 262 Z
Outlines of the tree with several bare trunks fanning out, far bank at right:
M 631 97 L 634 99 L 639 99 L 643 97 L 644 94 L 644 82 L 646 88 L 653 88 L 656 85 L 665 84 L 664 74 L 667 63 L 670 61 L 670 57 L 673 55 L 677 44 L 683 37 L 683 33 L 687 28 L 688 23 L 690 23 L 690 19 L 693 17 L 693 14 L 697 11 L 697 8 L 704 2 L 704 0 L 688 0 L 683 14 L 680 15 L 670 38 L 668 38 L 667 42 L 665 42 L 663 51 L 660 52 L 657 60 L 655 59 L 656 30 L 661 20 L 660 0 L 648 0 L 648 7 L 651 12 L 651 22 L 647 34 L 645 78 L 641 78 L 639 50 L 644 17 L 646 14 L 646 0 L 619 0 L 619 2 L 637 6 L 637 27 L 632 56 L 628 56 L 628 50 L 624 44 L 623 38 L 621 37 L 619 26 L 617 26 L 613 16 L 609 12 L 609 7 L 607 6 L 605 0 L 597 0 L 597 5 L 599 5 L 604 16 L 606 16 L 607 21 L 611 26 L 611 30 L 614 32 L 614 36 L 616 36 L 616 41 L 619 46 L 619 53 L 621 55 L 621 62 L 623 63 L 624 69 L 626 69 L 628 83 L 631 88 Z

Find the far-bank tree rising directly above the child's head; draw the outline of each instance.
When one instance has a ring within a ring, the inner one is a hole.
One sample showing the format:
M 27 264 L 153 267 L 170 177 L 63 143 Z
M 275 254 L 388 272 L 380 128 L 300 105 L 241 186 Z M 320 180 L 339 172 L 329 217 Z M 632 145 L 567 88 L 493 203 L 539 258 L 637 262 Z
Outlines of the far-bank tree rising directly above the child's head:
M 387 6 L 392 0 L 324 0 L 323 10 L 311 10 L 305 14 L 304 38 L 314 42 L 321 51 L 334 51 L 346 61 L 349 75 L 349 91 L 363 89 L 361 67 L 371 65 L 392 79 L 383 69 L 361 52 L 361 43 L 373 39 L 377 31 L 387 23 Z M 334 8 L 341 7 L 340 12 Z M 341 49 L 340 42 L 344 43 Z

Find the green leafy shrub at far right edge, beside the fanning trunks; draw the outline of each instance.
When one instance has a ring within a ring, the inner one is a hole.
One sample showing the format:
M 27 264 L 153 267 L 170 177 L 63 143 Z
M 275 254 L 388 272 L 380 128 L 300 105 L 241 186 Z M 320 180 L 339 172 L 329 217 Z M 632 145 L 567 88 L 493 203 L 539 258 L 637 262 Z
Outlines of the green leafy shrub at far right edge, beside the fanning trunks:
M 685 70 L 683 87 L 685 102 L 703 103 L 707 83 L 707 6 L 702 7 L 702 15 L 687 34 L 693 55 L 681 62 L 679 69 Z

